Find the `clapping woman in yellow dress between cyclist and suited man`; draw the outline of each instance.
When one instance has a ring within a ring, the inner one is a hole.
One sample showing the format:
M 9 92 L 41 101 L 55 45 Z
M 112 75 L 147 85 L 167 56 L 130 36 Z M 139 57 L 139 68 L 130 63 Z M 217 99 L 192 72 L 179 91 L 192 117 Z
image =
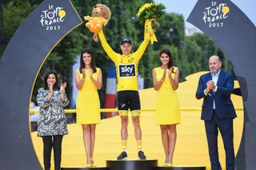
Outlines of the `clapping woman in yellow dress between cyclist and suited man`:
M 162 145 L 166 153 L 164 166 L 172 166 L 175 142 L 177 137 L 176 125 L 181 122 L 178 96 L 178 68 L 174 67 L 173 56 L 169 49 L 159 53 L 162 65 L 154 68 L 154 89 L 158 91 L 156 101 L 156 123 L 160 125 Z

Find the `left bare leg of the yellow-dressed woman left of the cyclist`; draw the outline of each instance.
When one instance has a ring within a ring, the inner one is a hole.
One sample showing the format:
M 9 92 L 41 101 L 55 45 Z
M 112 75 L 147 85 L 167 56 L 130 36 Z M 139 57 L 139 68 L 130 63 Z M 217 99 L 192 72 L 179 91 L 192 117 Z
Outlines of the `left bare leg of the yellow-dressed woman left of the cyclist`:
M 90 164 L 90 125 L 82 125 L 83 143 L 86 149 L 86 164 Z

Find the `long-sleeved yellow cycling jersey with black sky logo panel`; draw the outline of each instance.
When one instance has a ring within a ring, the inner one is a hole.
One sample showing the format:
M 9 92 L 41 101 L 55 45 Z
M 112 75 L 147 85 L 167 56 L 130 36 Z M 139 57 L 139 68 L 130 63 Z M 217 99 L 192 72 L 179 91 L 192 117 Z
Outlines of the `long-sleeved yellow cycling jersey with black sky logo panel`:
M 106 54 L 114 61 L 117 73 L 118 92 L 123 90 L 138 90 L 138 61 L 141 59 L 149 43 L 149 39 L 144 38 L 144 41 L 139 46 L 138 50 L 129 55 L 115 53 L 110 45 L 106 42 L 106 38 L 101 30 L 98 37 L 102 42 L 102 47 Z

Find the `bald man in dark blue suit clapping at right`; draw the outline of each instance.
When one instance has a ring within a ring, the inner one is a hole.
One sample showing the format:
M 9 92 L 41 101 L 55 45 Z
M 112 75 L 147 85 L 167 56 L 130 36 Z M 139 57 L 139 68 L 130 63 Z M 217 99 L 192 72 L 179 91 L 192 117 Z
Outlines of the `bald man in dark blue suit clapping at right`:
M 210 73 L 200 77 L 196 97 L 203 98 L 201 119 L 205 121 L 211 169 L 222 169 L 218 160 L 219 130 L 226 152 L 226 170 L 234 170 L 233 119 L 237 115 L 230 100 L 234 77 L 231 73 L 224 72 L 221 67 L 222 61 L 218 56 L 209 58 Z

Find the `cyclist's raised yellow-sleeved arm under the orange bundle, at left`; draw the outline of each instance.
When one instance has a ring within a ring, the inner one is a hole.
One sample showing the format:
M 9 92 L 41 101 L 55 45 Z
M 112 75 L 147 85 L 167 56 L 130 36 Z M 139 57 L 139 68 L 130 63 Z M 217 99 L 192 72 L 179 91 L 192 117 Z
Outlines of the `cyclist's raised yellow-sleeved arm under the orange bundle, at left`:
M 115 53 L 114 50 L 110 47 L 110 45 L 106 42 L 105 35 L 103 30 L 98 33 L 98 37 L 102 42 L 102 48 L 105 50 L 106 54 L 110 57 L 112 61 L 117 61 L 118 53 Z

